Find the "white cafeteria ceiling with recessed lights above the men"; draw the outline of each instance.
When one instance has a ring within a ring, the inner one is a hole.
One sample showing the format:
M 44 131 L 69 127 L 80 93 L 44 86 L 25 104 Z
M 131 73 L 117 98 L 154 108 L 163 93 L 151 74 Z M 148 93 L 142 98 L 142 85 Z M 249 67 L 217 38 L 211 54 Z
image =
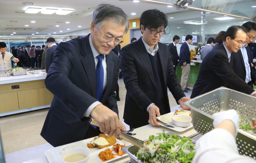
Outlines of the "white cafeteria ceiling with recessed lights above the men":
M 155 1 L 176 4 L 176 1 L 180 0 Z M 187 1 L 192 2 L 192 0 Z M 33 3 L 33 5 L 23 4 L 27 2 Z M 122 8 L 129 19 L 139 18 L 144 10 L 149 9 L 161 10 L 167 14 L 169 23 L 175 24 L 184 24 L 186 20 L 200 21 L 201 16 L 200 11 L 184 10 L 184 8 L 167 7 L 154 3 L 135 3 L 132 0 L 0 0 L 0 36 L 11 36 L 10 34 L 13 33 L 14 36 L 65 35 L 77 30 L 88 29 L 94 8 L 101 3 L 110 3 Z M 190 7 L 255 19 L 256 7 L 252 6 L 256 6 L 256 0 L 194 0 Z M 67 15 L 24 13 L 28 7 L 66 9 L 73 10 L 73 12 Z M 131 13 L 136 13 L 136 15 L 131 15 Z M 220 23 L 220 20 L 213 20 L 214 17 L 220 17 L 220 15 L 210 13 L 206 16 L 209 16 L 208 23 Z M 174 18 L 169 19 L 169 17 Z M 31 23 L 31 21 L 35 21 L 35 23 Z

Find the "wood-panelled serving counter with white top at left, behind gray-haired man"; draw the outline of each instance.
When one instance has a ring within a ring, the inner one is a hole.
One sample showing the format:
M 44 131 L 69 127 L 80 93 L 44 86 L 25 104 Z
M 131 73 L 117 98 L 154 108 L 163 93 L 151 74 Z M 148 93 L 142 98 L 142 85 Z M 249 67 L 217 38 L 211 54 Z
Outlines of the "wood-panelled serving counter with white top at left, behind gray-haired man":
M 46 75 L 39 75 L 40 71 L 0 77 L 0 117 L 50 107 L 53 94 L 46 89 Z

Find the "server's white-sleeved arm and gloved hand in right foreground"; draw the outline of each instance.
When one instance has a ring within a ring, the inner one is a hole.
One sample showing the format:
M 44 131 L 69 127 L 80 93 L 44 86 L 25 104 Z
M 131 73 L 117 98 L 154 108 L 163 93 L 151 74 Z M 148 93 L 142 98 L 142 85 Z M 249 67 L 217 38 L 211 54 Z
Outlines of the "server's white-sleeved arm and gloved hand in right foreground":
M 240 155 L 237 150 L 237 112 L 231 109 L 215 113 L 213 120 L 215 129 L 197 140 L 192 163 L 256 163 L 256 160 Z

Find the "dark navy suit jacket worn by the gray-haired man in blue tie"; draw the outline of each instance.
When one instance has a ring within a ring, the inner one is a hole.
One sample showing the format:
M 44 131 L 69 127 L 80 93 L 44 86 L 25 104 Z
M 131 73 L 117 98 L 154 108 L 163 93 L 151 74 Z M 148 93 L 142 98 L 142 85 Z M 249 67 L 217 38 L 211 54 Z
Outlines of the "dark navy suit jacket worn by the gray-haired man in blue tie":
M 41 135 L 54 147 L 84 139 L 90 126 L 90 118 L 83 114 L 97 100 L 89 36 L 59 43 L 45 79 L 46 88 L 54 97 Z M 115 91 L 119 58 L 114 52 L 105 58 L 108 82 L 100 102 L 118 114 Z

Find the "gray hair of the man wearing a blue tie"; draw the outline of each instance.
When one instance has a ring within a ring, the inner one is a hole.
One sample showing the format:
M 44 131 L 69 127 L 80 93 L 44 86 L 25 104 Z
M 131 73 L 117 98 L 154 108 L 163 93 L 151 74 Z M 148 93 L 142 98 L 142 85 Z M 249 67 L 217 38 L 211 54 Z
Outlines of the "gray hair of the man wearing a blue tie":
M 120 26 L 125 25 L 125 33 L 128 32 L 129 20 L 123 9 L 111 4 L 98 5 L 92 14 L 92 22 L 94 22 L 98 28 L 101 28 L 106 20 L 111 20 L 113 23 Z

